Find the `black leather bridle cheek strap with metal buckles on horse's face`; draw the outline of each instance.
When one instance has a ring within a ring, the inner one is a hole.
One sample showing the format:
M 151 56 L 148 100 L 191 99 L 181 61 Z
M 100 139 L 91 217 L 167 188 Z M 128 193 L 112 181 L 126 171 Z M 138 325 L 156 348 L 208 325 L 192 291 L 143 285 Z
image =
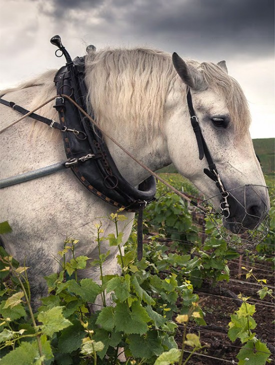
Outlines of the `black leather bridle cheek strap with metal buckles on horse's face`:
M 198 154 L 199 154 L 199 159 L 202 160 L 203 157 L 205 156 L 207 163 L 208 163 L 208 169 L 203 169 L 203 172 L 205 175 L 207 175 L 211 180 L 214 181 L 214 183 L 216 184 L 220 194 L 221 194 L 221 199 L 220 199 L 220 210 L 221 213 L 223 215 L 223 217 L 229 218 L 230 216 L 230 211 L 229 211 L 229 204 L 227 202 L 227 198 L 229 196 L 229 193 L 225 190 L 224 185 L 221 181 L 221 178 L 217 172 L 217 168 L 216 165 L 213 162 L 213 159 L 211 157 L 211 154 L 208 150 L 207 144 L 205 142 L 205 139 L 203 137 L 203 134 L 201 132 L 197 117 L 195 115 L 195 111 L 193 108 L 193 103 L 192 103 L 192 96 L 191 96 L 191 92 L 190 92 L 190 88 L 188 88 L 187 90 L 187 94 L 186 94 L 186 98 L 187 98 L 187 105 L 188 105 L 188 110 L 189 110 L 189 114 L 190 114 L 190 121 L 191 121 L 191 125 L 193 127 L 193 131 L 195 133 L 195 137 L 196 137 L 196 143 L 197 143 L 197 147 L 198 147 Z

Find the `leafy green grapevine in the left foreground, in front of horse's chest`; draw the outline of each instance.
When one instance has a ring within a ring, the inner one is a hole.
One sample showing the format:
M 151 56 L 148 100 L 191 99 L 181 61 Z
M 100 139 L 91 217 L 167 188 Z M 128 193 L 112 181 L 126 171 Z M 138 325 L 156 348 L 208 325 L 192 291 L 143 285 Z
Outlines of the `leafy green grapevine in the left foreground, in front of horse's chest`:
M 123 220 L 123 216 L 117 214 L 109 219 L 117 228 L 117 221 Z M 177 301 L 182 302 L 182 313 L 189 313 L 195 305 L 201 315 L 190 317 L 190 320 L 203 322 L 198 297 L 192 293 L 190 281 L 183 280 L 176 271 L 167 273 L 164 278 L 158 275 L 159 263 L 169 271 L 177 264 L 184 268 L 188 255 L 171 254 L 164 264 L 167 255 L 163 250 L 158 251 L 158 244 L 153 241 L 152 245 L 146 245 L 144 258 L 136 262 L 135 234 L 122 255 L 122 234 L 117 232 L 106 240 L 118 246 L 122 276 L 104 276 L 102 264 L 107 255 L 100 251 L 101 225 L 97 226 L 97 233 L 99 259 L 93 262 L 85 256 L 75 257 L 77 240 L 65 240 L 58 259 L 62 270 L 45 278 L 49 295 L 41 299 L 36 313 L 30 306 L 27 268 L 19 267 L 2 253 L 2 270 L 9 274 L 7 278 L 14 278 L 3 281 L 1 287 L 3 364 L 12 364 L 17 358 L 21 363 L 16 361 L 16 364 L 119 364 L 118 347 L 123 347 L 129 359 L 150 365 L 162 353 L 174 358 L 178 354 L 174 341 L 177 326 L 170 321 L 178 312 Z M 67 262 L 69 251 L 73 258 Z M 78 279 L 77 271 L 87 265 L 97 266 L 101 284 L 91 279 Z M 194 265 L 192 260 L 190 265 Z M 112 297 L 112 307 L 106 307 L 107 294 Z M 94 303 L 97 296 L 101 296 L 103 307 L 90 313 L 89 304 Z M 185 340 L 191 341 L 187 337 Z M 165 361 L 165 356 L 163 359 Z

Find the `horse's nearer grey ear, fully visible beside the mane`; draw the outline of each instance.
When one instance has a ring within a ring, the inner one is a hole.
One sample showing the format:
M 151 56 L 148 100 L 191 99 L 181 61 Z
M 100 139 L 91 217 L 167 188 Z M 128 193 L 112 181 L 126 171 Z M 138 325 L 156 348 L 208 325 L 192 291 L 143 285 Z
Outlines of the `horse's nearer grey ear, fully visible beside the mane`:
M 172 61 L 176 72 L 187 86 L 197 91 L 206 89 L 202 74 L 195 67 L 187 66 L 183 59 L 175 52 L 172 55 Z

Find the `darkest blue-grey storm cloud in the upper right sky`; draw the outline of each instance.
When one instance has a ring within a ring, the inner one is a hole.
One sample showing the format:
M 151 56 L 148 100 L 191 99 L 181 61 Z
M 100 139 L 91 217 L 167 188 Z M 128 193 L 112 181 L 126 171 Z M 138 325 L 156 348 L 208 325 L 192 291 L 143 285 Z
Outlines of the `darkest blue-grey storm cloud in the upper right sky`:
M 144 9 L 143 9 L 144 10 Z M 143 32 L 163 35 L 172 42 L 255 54 L 273 53 L 274 2 L 269 0 L 187 0 L 161 3 L 136 17 Z

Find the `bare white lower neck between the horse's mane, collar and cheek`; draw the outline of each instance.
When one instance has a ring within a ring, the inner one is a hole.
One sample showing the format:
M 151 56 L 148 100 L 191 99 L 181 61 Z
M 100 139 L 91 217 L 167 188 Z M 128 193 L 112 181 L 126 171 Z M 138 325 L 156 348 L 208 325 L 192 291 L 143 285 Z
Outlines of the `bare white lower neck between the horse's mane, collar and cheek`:
M 124 128 L 124 130 L 122 128 L 114 128 L 112 137 L 130 152 L 135 159 L 142 162 L 150 170 L 156 171 L 172 162 L 169 153 L 171 152 L 171 147 L 167 144 L 167 137 L 171 131 L 174 134 L 178 133 L 174 128 L 175 123 L 178 121 L 183 123 L 183 119 L 189 119 L 187 103 L 184 105 L 182 102 L 182 90 L 180 87 L 171 84 L 166 96 L 161 125 L 150 132 L 144 132 L 141 127 L 137 133 L 130 129 L 128 130 L 128 128 Z M 130 125 L 130 123 L 128 124 Z M 182 126 L 180 130 L 182 130 Z M 146 133 L 151 134 L 148 137 Z M 150 175 L 118 146 L 108 138 L 105 139 L 116 166 L 129 183 L 134 186 L 138 185 Z

